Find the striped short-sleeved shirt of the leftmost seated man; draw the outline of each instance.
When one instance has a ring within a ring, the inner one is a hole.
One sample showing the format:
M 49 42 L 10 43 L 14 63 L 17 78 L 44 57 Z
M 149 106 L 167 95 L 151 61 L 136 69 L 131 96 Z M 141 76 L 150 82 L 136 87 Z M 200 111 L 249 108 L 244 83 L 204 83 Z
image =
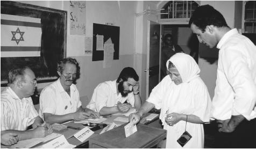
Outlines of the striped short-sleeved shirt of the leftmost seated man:
M 1 131 L 26 130 L 37 116 L 31 97 L 19 99 L 10 87 L 1 92 Z

